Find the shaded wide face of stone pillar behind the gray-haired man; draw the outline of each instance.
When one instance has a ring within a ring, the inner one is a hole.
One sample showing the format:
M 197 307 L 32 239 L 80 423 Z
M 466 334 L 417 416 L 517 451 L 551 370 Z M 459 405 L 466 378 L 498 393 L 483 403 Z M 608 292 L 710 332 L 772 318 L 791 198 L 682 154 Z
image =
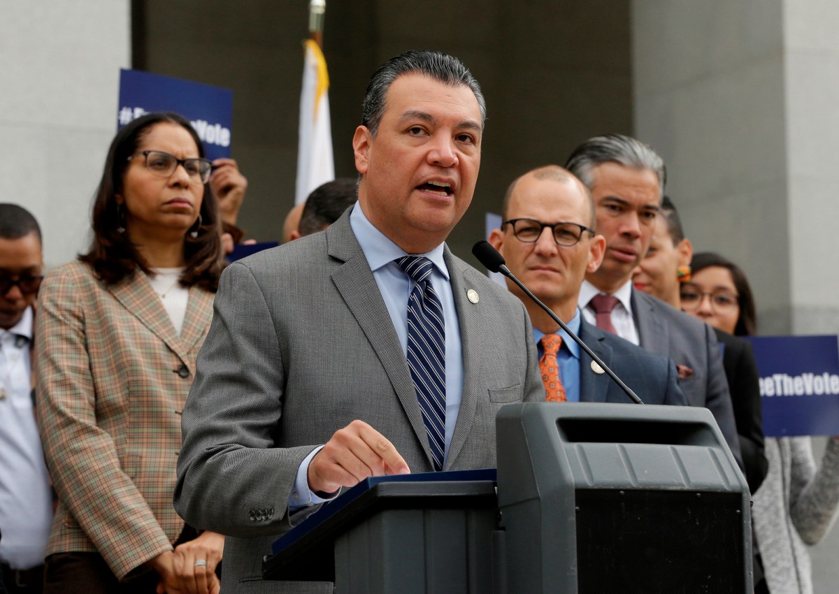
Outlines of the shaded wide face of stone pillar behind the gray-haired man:
M 791 330 L 782 3 L 633 3 L 635 132 L 696 251 L 740 264 L 763 333 Z

